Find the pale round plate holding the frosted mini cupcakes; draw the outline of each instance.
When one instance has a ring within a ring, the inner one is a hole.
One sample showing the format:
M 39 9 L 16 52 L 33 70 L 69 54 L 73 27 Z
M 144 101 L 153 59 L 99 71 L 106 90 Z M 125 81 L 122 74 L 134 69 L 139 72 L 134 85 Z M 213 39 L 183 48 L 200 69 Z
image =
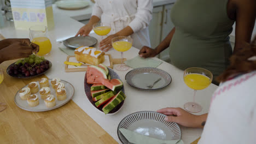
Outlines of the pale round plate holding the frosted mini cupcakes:
M 64 81 L 64 80 L 61 80 L 61 82 L 64 83 L 65 89 L 66 89 L 66 92 L 67 92 L 67 94 L 66 94 L 67 98 L 65 100 L 62 100 L 62 101 L 57 100 L 56 94 L 55 94 L 55 90 L 53 89 L 53 87 L 51 87 L 51 79 L 49 79 L 51 94 L 53 94 L 55 96 L 55 98 L 56 98 L 56 105 L 54 107 L 51 107 L 51 108 L 46 107 L 46 105 L 44 104 L 44 100 L 41 99 L 41 97 L 40 97 L 39 92 L 36 93 L 38 95 L 38 98 L 39 98 L 39 105 L 37 105 L 35 107 L 29 106 L 27 104 L 27 100 L 21 100 L 20 96 L 19 96 L 19 91 L 21 91 L 21 89 L 24 88 L 24 87 L 22 87 L 16 93 L 15 98 L 14 98 L 14 102 L 15 102 L 15 104 L 17 106 L 19 106 L 23 110 L 35 111 L 35 112 L 38 112 L 38 111 L 49 111 L 49 110 L 53 110 L 53 109 L 56 109 L 58 107 L 61 107 L 62 105 L 65 105 L 69 100 L 71 100 L 73 95 L 74 95 L 74 87 L 73 87 L 73 85 L 71 85 L 71 83 L 69 83 L 67 81 Z M 27 87 L 27 85 L 25 87 Z M 38 83 L 38 88 L 40 90 L 39 83 Z

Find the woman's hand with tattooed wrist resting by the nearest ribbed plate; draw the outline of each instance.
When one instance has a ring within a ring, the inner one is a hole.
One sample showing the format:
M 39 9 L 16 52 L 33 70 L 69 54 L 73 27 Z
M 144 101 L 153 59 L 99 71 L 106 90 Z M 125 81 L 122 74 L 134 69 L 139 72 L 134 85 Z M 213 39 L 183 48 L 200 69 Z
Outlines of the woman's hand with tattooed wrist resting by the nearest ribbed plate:
M 166 115 L 165 120 L 168 122 L 174 122 L 183 125 L 184 127 L 201 128 L 206 122 L 207 115 L 193 115 L 179 107 L 177 108 L 165 108 L 157 110 Z

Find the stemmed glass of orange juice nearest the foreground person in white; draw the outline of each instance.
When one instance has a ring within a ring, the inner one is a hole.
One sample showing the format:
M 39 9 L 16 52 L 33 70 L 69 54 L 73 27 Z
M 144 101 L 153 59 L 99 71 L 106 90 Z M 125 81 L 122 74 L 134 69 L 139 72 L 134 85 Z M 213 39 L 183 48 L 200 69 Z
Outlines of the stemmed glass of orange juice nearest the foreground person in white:
M 203 68 L 188 68 L 184 70 L 183 79 L 186 85 L 194 89 L 193 102 L 184 104 L 184 109 L 189 112 L 200 112 L 202 106 L 195 103 L 195 94 L 197 90 L 207 88 L 212 82 L 212 73 Z

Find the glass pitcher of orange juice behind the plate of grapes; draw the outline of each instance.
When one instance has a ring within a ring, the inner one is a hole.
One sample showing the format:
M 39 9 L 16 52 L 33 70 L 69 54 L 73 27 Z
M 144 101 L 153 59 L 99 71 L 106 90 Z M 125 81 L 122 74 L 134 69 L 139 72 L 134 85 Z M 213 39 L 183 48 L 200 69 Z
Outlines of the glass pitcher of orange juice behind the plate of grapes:
M 37 55 L 48 55 L 51 51 L 51 41 L 48 38 L 48 28 L 46 26 L 30 27 L 30 39 L 32 43 L 39 45 L 39 52 Z

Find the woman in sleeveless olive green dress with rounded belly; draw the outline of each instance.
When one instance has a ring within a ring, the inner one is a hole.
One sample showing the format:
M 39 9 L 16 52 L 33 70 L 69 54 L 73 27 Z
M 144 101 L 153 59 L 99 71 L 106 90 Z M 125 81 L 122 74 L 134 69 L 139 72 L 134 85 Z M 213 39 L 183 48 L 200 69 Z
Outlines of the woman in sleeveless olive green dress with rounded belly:
M 139 56 L 154 57 L 170 46 L 177 68 L 201 67 L 218 76 L 229 65 L 232 25 L 236 21 L 235 52 L 250 43 L 255 9 L 255 0 L 177 0 L 171 11 L 175 27 L 155 49 L 144 46 Z

